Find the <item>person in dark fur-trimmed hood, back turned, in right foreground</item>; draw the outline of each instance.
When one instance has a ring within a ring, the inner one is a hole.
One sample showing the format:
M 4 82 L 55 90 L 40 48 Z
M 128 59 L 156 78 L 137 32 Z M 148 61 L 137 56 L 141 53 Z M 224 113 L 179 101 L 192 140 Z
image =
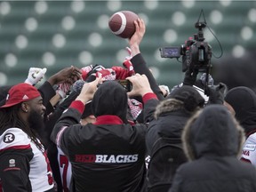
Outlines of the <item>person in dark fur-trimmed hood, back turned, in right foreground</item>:
M 192 117 L 182 134 L 189 162 L 177 170 L 169 192 L 255 192 L 256 170 L 238 160 L 244 131 L 222 105 Z

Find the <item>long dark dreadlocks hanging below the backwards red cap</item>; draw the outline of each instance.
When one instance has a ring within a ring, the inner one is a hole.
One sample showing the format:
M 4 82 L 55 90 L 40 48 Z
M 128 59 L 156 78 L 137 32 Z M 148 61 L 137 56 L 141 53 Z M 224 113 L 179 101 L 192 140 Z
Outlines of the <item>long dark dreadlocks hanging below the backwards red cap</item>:
M 30 140 L 32 140 L 36 147 L 44 152 L 44 146 L 41 144 L 41 140 L 38 137 L 38 134 L 29 128 L 29 125 L 24 122 L 18 115 L 20 105 L 13 106 L 12 108 L 1 108 L 0 110 L 0 132 L 4 132 L 10 127 L 20 128 L 23 132 L 28 134 Z

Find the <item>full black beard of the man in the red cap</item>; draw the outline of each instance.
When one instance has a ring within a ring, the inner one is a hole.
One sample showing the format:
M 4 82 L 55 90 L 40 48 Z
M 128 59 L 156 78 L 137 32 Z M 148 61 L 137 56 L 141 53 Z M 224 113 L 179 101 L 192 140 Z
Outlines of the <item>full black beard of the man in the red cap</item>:
M 39 135 L 44 129 L 44 119 L 41 114 L 36 112 L 36 110 L 30 112 L 30 115 L 28 116 L 28 124 L 30 129 L 36 131 Z

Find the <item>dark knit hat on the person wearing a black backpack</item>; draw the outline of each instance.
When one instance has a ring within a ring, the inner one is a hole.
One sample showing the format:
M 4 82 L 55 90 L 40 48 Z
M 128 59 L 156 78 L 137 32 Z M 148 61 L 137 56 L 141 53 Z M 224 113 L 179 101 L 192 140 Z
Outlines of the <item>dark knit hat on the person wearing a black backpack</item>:
M 176 99 L 184 102 L 184 108 L 193 111 L 196 107 L 204 107 L 204 98 L 193 86 L 183 85 L 174 89 L 166 99 Z

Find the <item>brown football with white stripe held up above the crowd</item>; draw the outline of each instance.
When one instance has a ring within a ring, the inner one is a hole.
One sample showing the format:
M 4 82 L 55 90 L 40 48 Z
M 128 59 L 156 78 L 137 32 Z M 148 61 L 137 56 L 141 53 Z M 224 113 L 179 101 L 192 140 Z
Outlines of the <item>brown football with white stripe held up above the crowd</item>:
M 134 20 L 139 16 L 131 11 L 121 11 L 114 13 L 108 20 L 108 27 L 116 36 L 130 38 L 135 32 Z

